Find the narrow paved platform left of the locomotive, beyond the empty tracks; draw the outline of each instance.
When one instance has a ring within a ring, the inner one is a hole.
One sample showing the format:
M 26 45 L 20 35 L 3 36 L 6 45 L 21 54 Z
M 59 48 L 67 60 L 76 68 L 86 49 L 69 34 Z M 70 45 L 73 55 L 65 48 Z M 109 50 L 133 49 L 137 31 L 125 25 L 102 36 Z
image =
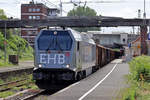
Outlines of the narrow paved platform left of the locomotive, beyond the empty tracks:
M 34 62 L 33 61 L 23 61 L 19 62 L 19 65 L 9 66 L 9 67 L 0 67 L 0 73 L 7 72 L 7 71 L 14 71 L 20 69 L 27 69 L 33 68 Z

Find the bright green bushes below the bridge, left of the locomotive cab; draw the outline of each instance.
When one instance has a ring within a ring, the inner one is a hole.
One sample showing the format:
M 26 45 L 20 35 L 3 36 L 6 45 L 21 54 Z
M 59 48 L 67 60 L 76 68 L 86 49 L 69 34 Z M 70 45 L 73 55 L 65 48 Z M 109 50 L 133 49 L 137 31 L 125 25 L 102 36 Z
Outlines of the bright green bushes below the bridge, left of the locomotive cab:
M 0 33 L 0 60 L 4 59 L 4 40 L 3 34 Z M 25 39 L 17 35 L 10 35 L 9 38 L 6 39 L 6 42 L 7 58 L 8 55 L 19 55 L 19 58 L 25 58 L 25 60 L 33 58 L 33 48 L 28 45 Z M 0 66 L 3 65 L 0 64 Z

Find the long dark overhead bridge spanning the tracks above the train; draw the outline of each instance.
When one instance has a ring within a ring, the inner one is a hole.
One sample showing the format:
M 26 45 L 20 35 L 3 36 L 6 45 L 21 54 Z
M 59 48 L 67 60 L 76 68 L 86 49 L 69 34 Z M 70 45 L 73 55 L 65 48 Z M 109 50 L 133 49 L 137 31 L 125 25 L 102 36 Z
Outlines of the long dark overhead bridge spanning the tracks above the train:
M 0 20 L 0 28 L 147 26 L 149 23 L 150 19 L 121 17 L 53 17 L 43 20 Z

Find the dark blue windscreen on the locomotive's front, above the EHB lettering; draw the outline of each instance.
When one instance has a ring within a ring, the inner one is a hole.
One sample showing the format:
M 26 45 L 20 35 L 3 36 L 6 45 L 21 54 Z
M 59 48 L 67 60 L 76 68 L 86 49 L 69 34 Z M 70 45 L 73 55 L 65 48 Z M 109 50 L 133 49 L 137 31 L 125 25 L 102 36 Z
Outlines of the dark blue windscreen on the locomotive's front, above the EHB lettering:
M 68 31 L 42 31 L 38 39 L 39 50 L 69 51 L 72 47 L 72 39 Z

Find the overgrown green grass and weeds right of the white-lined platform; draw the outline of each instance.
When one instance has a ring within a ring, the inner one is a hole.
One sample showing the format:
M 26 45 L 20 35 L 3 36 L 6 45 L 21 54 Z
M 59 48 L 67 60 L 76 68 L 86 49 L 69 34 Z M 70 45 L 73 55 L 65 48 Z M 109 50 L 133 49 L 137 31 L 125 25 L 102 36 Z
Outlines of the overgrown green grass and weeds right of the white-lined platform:
M 120 100 L 150 100 L 150 57 L 136 57 L 129 65 L 129 87 L 120 92 Z

